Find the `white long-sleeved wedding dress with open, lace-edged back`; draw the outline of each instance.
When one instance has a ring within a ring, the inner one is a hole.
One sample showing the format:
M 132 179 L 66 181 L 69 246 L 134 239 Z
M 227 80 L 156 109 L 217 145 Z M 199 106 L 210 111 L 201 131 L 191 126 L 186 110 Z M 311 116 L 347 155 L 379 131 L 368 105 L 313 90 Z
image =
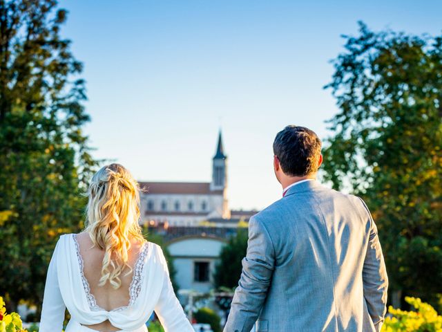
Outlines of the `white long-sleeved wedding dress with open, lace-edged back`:
M 83 259 L 75 234 L 62 235 L 48 268 L 39 332 L 61 332 L 64 311 L 70 321 L 66 332 L 97 332 L 84 325 L 109 320 L 122 332 L 146 332 L 153 311 L 166 332 L 193 332 L 173 293 L 166 259 L 160 246 L 144 243 L 133 269 L 130 302 L 106 311 L 97 306 L 83 273 Z

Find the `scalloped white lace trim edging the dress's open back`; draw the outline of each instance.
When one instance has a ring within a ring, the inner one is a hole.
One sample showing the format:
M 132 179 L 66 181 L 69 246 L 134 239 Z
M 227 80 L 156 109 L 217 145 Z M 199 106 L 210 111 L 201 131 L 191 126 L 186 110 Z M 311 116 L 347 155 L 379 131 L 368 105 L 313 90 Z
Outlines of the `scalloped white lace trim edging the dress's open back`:
M 75 242 L 75 249 L 77 252 L 77 259 L 78 259 L 78 264 L 79 264 L 79 268 L 80 268 L 81 281 L 83 284 L 84 292 L 86 293 L 86 298 L 88 299 L 89 307 L 93 311 L 104 311 L 105 309 L 100 307 L 97 304 L 97 299 L 95 299 L 95 296 L 92 293 L 90 293 L 89 282 L 84 275 L 84 261 L 83 261 L 83 257 L 81 257 L 81 254 L 80 254 L 79 244 L 78 244 L 78 240 L 77 240 L 77 234 L 72 234 L 72 235 L 73 235 L 73 239 Z M 132 306 L 134 304 L 135 300 L 137 299 L 138 295 L 140 295 L 140 291 L 142 288 L 142 274 L 143 274 L 143 267 L 144 267 L 143 263 L 144 263 L 144 259 L 146 258 L 146 255 L 147 255 L 147 251 L 148 251 L 147 249 L 148 249 L 147 243 L 144 243 L 143 248 L 140 251 L 140 255 L 138 256 L 137 261 L 135 262 L 135 267 L 133 268 L 133 277 L 132 277 L 131 284 L 129 286 L 130 299 L 129 299 L 128 305 L 119 306 L 118 308 L 114 308 L 112 311 L 122 311 L 122 310 L 128 308 L 129 306 Z

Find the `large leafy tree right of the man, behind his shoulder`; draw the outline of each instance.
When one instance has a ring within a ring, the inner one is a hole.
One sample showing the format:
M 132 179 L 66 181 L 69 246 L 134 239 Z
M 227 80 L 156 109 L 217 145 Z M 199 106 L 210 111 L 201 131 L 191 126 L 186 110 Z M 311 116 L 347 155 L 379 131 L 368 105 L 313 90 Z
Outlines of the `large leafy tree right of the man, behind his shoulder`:
M 374 33 L 360 23 L 334 60 L 340 111 L 325 178 L 363 196 L 390 289 L 433 303 L 442 290 L 442 36 Z

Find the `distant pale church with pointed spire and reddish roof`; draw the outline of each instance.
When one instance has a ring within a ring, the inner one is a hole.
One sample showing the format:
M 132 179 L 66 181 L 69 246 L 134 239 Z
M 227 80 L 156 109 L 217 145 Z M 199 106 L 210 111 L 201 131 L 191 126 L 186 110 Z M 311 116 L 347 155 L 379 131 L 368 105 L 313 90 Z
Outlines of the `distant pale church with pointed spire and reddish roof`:
M 218 134 L 211 182 L 140 182 L 142 223 L 195 227 L 203 221 L 230 219 L 227 155 Z

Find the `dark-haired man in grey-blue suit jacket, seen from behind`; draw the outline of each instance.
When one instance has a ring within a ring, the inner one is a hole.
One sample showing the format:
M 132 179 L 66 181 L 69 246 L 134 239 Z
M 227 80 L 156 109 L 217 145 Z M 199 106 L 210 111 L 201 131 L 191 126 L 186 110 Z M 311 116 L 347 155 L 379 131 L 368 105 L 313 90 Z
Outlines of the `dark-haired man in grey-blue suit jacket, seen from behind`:
M 376 225 L 361 199 L 316 181 L 320 147 L 305 127 L 276 135 L 283 197 L 249 221 L 224 332 L 381 330 L 388 282 Z

